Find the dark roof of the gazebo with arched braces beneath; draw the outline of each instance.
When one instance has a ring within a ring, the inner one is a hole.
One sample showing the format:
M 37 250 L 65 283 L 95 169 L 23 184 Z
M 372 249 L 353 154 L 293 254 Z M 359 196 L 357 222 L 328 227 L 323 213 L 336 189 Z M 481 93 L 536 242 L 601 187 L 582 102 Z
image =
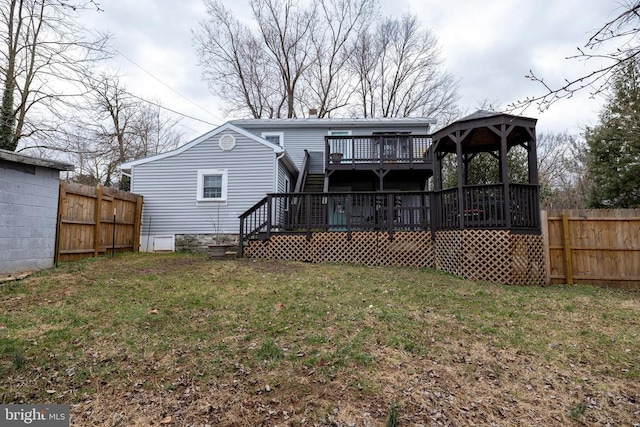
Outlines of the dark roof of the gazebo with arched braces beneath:
M 537 121 L 529 117 L 478 110 L 436 131 L 432 138 L 437 152 L 455 153 L 458 139 L 462 141 L 464 152 L 496 151 L 500 148 L 503 132 L 509 148 L 534 139 Z

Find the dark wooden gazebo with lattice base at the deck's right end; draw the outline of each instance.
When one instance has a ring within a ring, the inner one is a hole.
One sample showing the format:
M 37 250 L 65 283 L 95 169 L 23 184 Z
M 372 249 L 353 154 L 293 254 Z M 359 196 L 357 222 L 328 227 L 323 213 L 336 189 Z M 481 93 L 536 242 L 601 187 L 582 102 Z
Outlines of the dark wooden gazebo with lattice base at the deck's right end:
M 442 268 L 478 280 L 544 283 L 536 122 L 481 110 L 432 135 L 431 227 Z M 474 167 L 486 175 L 492 166 L 493 182 L 473 181 Z M 516 166 L 519 176 L 510 170 Z

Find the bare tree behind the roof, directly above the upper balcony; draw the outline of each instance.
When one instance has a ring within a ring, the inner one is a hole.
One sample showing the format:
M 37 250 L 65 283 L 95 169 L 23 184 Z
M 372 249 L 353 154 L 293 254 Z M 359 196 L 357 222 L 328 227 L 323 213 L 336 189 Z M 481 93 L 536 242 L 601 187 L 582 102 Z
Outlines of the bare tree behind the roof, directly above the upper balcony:
M 385 19 L 373 33 L 361 34 L 351 67 L 365 117 L 437 117 L 458 100 L 436 37 L 413 15 Z

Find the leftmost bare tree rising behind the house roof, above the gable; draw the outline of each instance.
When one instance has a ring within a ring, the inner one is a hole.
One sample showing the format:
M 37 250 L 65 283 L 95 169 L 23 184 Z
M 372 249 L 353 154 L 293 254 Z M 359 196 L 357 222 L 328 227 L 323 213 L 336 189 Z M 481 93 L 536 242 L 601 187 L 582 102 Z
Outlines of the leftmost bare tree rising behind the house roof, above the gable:
M 203 77 L 229 103 L 229 111 L 295 117 L 301 77 L 313 60 L 313 11 L 292 0 L 249 3 L 255 33 L 220 1 L 205 0 L 208 18 L 194 32 Z

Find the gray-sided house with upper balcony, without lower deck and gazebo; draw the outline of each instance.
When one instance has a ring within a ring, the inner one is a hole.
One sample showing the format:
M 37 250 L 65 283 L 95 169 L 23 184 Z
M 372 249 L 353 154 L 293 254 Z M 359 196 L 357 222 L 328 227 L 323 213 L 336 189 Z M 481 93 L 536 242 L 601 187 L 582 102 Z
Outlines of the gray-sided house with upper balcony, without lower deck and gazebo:
M 144 196 L 141 250 L 203 250 L 220 235 L 237 241 L 239 217 L 269 193 L 424 190 L 431 172 L 423 163 L 384 174 L 380 149 L 388 157 L 408 158 L 414 155 L 409 137 L 421 135 L 415 156 L 424 159 L 433 123 L 425 118 L 234 120 L 174 151 L 125 163 L 121 169 L 131 176 L 131 191 Z M 390 137 L 396 134 L 402 142 Z M 331 164 L 325 180 L 329 156 L 338 152 L 342 160 Z

